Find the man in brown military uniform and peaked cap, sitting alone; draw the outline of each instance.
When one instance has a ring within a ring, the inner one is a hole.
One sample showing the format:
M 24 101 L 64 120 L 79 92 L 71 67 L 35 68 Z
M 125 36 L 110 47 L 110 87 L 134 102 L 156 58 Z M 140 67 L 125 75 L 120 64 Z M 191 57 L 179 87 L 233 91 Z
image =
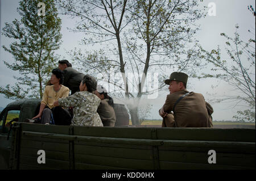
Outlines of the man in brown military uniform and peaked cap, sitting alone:
M 212 106 L 205 102 L 202 94 L 188 92 L 187 81 L 188 75 L 182 72 L 174 72 L 164 81 L 169 85 L 170 94 L 159 110 L 162 127 L 213 127 Z

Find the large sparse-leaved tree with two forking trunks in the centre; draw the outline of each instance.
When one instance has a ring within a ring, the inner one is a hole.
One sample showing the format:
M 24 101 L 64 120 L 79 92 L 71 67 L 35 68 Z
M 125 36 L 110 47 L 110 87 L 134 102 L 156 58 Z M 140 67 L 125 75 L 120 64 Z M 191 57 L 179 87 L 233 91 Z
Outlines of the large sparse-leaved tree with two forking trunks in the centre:
M 198 30 L 193 23 L 204 16 L 198 5 L 193 0 L 60 1 L 64 14 L 81 19 L 73 30 L 85 33 L 81 44 L 102 45 L 93 52 L 75 49 L 70 54 L 87 70 L 105 73 L 102 78 L 117 85 L 116 91 L 125 92 L 123 99 L 134 125 L 139 124 L 142 96 L 153 92 L 143 91 L 150 70 L 168 72 L 159 76 L 162 83 L 170 70 L 192 70 L 201 65 L 193 40 Z M 189 48 L 187 43 L 193 46 Z M 121 76 L 113 79 L 113 72 Z M 135 82 L 129 79 L 129 73 L 139 75 Z M 131 92 L 134 87 L 137 92 Z M 159 85 L 156 91 L 163 87 Z

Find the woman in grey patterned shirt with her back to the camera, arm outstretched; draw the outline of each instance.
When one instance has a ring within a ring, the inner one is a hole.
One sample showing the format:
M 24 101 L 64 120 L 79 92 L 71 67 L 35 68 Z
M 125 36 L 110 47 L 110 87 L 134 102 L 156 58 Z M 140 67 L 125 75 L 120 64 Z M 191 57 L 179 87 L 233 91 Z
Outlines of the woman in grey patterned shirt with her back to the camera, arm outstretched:
M 61 107 L 73 107 L 72 125 L 103 127 L 97 108 L 101 100 L 94 95 L 97 81 L 90 75 L 82 79 L 79 92 L 57 100 L 54 105 Z

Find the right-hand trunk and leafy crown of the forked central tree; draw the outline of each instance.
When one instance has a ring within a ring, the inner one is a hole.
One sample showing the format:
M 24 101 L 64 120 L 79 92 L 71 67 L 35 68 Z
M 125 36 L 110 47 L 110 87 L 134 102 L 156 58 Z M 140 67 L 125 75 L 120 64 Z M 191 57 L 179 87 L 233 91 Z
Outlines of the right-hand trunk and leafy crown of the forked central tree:
M 142 74 L 135 95 L 138 102 L 145 94 L 143 87 L 150 70 L 163 73 L 158 79 L 160 85 L 156 91 L 159 91 L 166 87 L 163 79 L 170 76 L 170 70 L 189 73 L 201 66 L 197 59 L 197 43 L 193 39 L 198 30 L 193 23 L 204 16 L 204 12 L 197 9 L 198 5 L 197 1 L 137 1 L 129 9 L 133 21 L 123 39 L 130 69 Z M 189 43 L 193 44 L 192 48 Z M 133 104 L 130 111 L 136 120 L 137 108 L 132 108 Z

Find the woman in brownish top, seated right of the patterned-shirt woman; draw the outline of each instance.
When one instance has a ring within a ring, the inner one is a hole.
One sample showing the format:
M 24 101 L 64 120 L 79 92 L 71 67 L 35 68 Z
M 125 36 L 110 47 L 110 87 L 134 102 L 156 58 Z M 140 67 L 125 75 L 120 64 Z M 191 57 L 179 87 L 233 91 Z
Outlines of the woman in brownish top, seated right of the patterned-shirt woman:
M 98 107 L 98 114 L 101 117 L 101 121 L 104 127 L 115 126 L 115 111 L 113 99 L 108 96 L 108 91 L 101 85 L 97 86 L 96 95 L 101 99 L 101 104 Z

